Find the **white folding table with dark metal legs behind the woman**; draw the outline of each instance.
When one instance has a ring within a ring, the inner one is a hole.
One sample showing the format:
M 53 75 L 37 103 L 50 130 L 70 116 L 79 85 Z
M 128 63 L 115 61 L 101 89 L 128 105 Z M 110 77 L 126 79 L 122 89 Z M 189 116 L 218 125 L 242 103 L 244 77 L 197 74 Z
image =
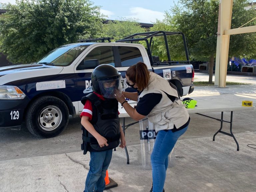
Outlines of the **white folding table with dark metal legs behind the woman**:
M 130 103 L 132 106 L 133 104 L 135 105 L 136 103 Z M 242 100 L 241 102 L 237 102 L 237 101 L 232 101 L 232 100 L 224 100 L 224 99 L 211 99 L 211 100 L 208 100 L 208 99 L 198 99 L 197 100 L 197 106 L 195 108 L 188 108 L 188 113 L 196 113 L 198 115 L 202 115 L 204 117 L 208 117 L 208 118 L 211 118 L 211 119 L 215 119 L 217 121 L 220 121 L 220 129 L 213 135 L 213 141 L 215 140 L 215 136 L 218 134 L 218 133 L 222 133 L 222 134 L 225 134 L 225 135 L 228 135 L 230 137 L 233 137 L 233 139 L 235 140 L 236 142 L 236 145 L 237 145 L 237 151 L 239 151 L 239 144 L 232 132 L 232 123 L 233 123 L 233 111 L 249 111 L 249 110 L 255 110 L 255 106 L 252 106 L 252 107 L 244 107 L 242 106 Z M 218 118 L 214 118 L 214 117 L 211 117 L 211 116 L 208 116 L 208 115 L 204 115 L 204 114 L 201 114 L 201 113 L 212 113 L 212 112 L 221 112 L 221 118 L 218 119 Z M 230 121 L 226 121 L 223 119 L 223 112 L 230 112 Z M 126 117 L 130 117 L 126 111 L 124 110 L 124 108 L 121 108 L 119 107 L 119 118 L 123 118 L 123 131 L 124 131 L 124 134 L 125 134 L 125 130 L 135 124 L 135 123 L 138 123 L 137 122 L 134 122 L 134 123 L 131 123 L 131 124 L 128 124 L 128 125 L 125 125 L 125 118 Z M 229 123 L 230 124 L 230 133 L 227 133 L 227 132 L 224 132 L 222 131 L 222 125 L 223 125 L 223 122 L 226 122 L 226 123 Z M 127 151 L 127 148 L 125 147 L 125 153 L 126 153 L 126 157 L 127 157 L 127 164 L 129 164 L 129 154 L 128 154 L 128 151 Z

